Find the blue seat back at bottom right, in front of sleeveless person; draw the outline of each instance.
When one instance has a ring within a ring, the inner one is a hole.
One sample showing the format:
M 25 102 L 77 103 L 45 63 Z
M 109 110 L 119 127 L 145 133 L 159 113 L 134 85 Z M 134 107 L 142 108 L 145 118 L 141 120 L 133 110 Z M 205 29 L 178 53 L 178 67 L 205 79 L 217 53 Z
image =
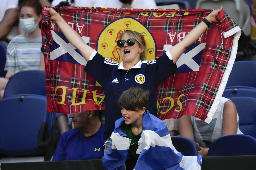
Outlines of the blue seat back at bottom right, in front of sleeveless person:
M 256 155 L 256 139 L 250 135 L 226 135 L 214 141 L 207 156 Z

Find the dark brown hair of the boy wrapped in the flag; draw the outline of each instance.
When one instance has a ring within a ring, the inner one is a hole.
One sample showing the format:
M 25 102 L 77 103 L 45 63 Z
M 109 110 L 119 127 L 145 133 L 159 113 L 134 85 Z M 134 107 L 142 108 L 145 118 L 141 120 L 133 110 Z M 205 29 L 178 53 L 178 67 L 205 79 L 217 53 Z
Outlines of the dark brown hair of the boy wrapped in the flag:
M 147 108 L 148 94 L 149 91 L 144 91 L 139 87 L 131 87 L 121 94 L 117 104 L 126 110 L 138 112 L 143 107 Z

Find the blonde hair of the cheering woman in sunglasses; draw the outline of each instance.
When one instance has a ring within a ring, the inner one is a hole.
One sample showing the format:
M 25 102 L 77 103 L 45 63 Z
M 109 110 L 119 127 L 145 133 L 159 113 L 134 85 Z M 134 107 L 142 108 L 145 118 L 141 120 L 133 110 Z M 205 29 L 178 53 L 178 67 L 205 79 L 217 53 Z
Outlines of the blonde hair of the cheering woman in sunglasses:
M 125 29 L 125 31 L 120 34 L 118 39 L 121 40 L 122 36 L 125 33 L 127 33 L 129 35 L 129 37 L 134 37 L 139 42 L 139 47 L 140 48 L 142 48 L 142 46 L 146 47 L 146 41 L 145 41 L 144 37 L 140 33 L 138 33 L 137 31 L 132 31 L 130 29 Z M 141 53 L 141 55 L 139 56 L 139 59 L 141 61 L 146 60 L 145 48 L 144 48 L 143 52 Z

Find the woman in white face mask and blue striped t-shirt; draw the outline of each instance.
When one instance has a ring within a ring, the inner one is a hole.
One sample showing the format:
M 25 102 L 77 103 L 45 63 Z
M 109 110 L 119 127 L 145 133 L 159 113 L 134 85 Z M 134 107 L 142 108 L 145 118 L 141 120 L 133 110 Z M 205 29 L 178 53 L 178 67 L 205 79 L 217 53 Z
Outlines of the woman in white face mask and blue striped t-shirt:
M 14 37 L 7 46 L 5 78 L 0 78 L 0 100 L 10 77 L 23 70 L 39 69 L 42 47 L 42 7 L 36 0 L 23 1 L 19 5 L 19 23 L 24 34 Z

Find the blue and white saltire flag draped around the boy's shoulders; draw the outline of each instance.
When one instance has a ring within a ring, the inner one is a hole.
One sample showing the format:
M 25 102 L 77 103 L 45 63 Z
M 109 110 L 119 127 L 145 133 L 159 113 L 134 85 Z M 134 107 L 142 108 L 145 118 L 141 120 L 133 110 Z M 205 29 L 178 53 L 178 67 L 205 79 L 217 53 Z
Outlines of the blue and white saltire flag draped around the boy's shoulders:
M 115 130 L 111 135 L 111 149 L 102 157 L 102 163 L 106 169 L 125 169 L 123 164 L 132 143 L 131 139 L 127 138 L 127 135 L 120 128 L 124 121 L 123 118 L 115 121 Z M 166 124 L 147 110 L 142 117 L 142 126 L 143 130 L 138 142 L 139 147 L 136 151 L 139 158 L 135 170 L 201 170 L 203 156 L 199 154 L 197 156 L 183 156 L 178 152 L 171 142 Z

